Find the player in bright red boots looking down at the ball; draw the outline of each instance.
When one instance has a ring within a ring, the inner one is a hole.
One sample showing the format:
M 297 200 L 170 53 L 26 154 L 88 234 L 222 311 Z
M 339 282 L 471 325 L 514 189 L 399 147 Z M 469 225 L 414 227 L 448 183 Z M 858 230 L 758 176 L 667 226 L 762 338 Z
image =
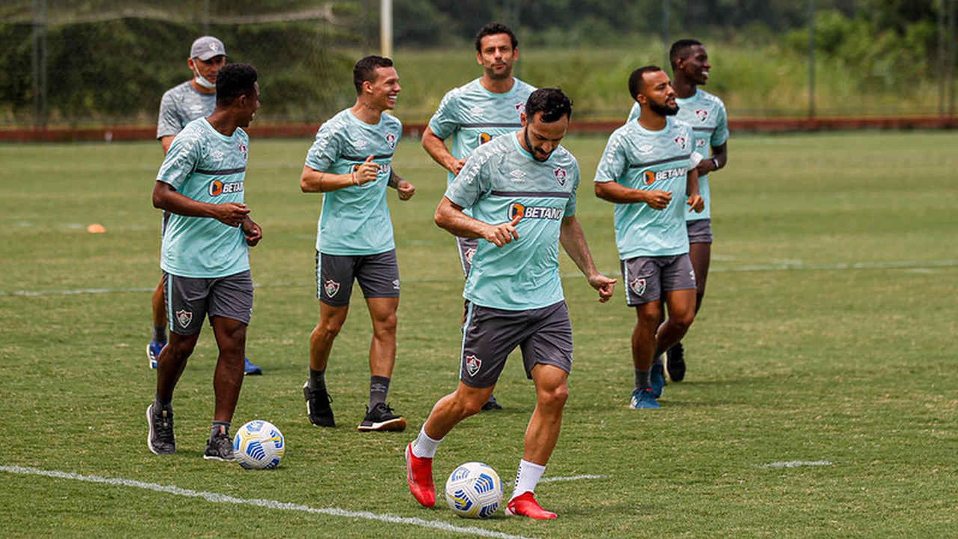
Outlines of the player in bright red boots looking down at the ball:
M 525 434 L 510 515 L 536 519 L 556 513 L 536 502 L 536 483 L 559 439 L 572 368 L 572 326 L 559 280 L 559 243 L 599 300 L 615 279 L 592 262 L 576 219 L 579 164 L 559 146 L 572 102 L 559 89 L 533 92 L 521 114 L 522 129 L 472 152 L 436 208 L 436 224 L 478 246 L 463 297 L 467 316 L 459 358 L 459 385 L 433 407 L 416 439 L 406 446 L 406 477 L 416 500 L 436 501 L 432 458 L 460 421 L 489 400 L 506 359 L 522 349 L 526 375 L 536 385 L 536 410 Z M 471 208 L 471 217 L 464 210 Z

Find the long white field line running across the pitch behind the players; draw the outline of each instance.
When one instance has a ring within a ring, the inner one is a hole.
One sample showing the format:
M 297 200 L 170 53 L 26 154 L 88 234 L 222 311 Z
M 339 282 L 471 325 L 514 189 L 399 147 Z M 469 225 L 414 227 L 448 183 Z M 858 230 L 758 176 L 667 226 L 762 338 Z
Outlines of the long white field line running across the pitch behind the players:
M 893 260 L 888 262 L 849 262 L 839 264 L 803 264 L 801 262 L 786 262 L 778 264 L 756 264 L 751 266 L 733 266 L 733 267 L 713 267 L 709 269 L 710 273 L 740 273 L 748 271 L 820 271 L 830 269 L 931 269 L 931 268 L 953 268 L 958 266 L 958 260 Z M 619 271 L 609 271 L 606 275 L 621 275 Z M 582 273 L 563 273 L 563 279 L 574 279 L 582 277 Z M 432 277 L 424 279 L 403 279 L 403 283 L 445 283 L 462 282 L 459 278 Z M 315 282 L 303 283 L 275 283 L 253 285 L 255 288 L 283 289 L 283 288 L 311 288 L 315 287 Z M 97 294 L 97 293 L 145 293 L 153 292 L 152 288 L 116 288 L 116 289 L 74 289 L 74 290 L 15 290 L 0 291 L 0 297 L 25 296 L 33 297 L 38 295 L 78 295 L 78 294 Z

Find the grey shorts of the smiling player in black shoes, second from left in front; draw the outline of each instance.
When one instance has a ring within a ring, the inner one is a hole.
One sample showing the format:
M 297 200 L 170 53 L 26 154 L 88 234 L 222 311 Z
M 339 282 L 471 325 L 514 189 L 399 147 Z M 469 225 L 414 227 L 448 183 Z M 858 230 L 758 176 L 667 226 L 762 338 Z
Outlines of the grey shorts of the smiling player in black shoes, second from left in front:
M 346 307 L 353 280 L 365 297 L 399 297 L 396 249 L 376 254 L 326 254 L 316 251 L 316 297 L 332 307 Z

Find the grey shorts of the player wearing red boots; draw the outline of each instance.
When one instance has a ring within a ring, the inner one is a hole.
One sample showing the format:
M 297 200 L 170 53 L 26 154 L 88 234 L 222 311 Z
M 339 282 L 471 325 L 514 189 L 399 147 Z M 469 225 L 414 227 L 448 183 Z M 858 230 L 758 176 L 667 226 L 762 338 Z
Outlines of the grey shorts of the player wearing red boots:
M 531 311 L 504 311 L 467 302 L 459 380 L 468 387 L 492 387 L 516 346 L 526 376 L 536 363 L 572 370 L 572 323 L 564 301 Z

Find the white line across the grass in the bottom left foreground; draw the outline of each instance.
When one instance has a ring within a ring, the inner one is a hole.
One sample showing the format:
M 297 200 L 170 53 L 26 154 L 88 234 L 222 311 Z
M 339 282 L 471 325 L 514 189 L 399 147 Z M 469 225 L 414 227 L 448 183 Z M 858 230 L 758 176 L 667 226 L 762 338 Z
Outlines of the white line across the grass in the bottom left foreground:
M 60 472 L 57 470 L 41 470 L 39 468 L 31 468 L 31 467 L 24 467 L 24 466 L 0 466 L 0 471 L 9 472 L 11 474 L 22 474 L 22 475 L 28 475 L 28 476 L 44 476 L 48 478 L 57 478 L 57 479 L 63 479 L 63 480 L 80 480 L 80 481 L 87 481 L 87 482 L 103 483 L 103 484 L 109 484 L 113 486 L 130 486 L 134 488 L 142 488 L 144 490 L 152 490 L 154 492 L 172 494 L 174 496 L 202 498 L 206 500 L 207 502 L 211 502 L 214 504 L 256 505 L 259 507 L 266 507 L 269 509 L 284 509 L 287 511 L 302 511 L 305 513 L 319 513 L 324 515 L 332 515 L 335 517 L 374 520 L 374 521 L 386 522 L 390 524 L 407 524 L 410 526 L 431 527 L 434 529 L 440 529 L 443 531 L 449 531 L 453 533 L 467 533 L 469 535 L 480 535 L 483 537 L 500 537 L 502 539 L 531 539 L 522 535 L 511 535 L 509 533 L 503 533 L 501 531 L 492 531 L 490 529 L 483 529 L 481 527 L 454 526 L 454 525 L 445 523 L 443 521 L 430 521 L 430 520 L 424 520 L 424 519 L 416 518 L 416 517 L 398 517 L 395 515 L 378 514 L 372 511 L 351 511 L 348 509 L 340 509 L 339 507 L 311 507 L 309 505 L 290 504 L 287 502 L 279 502 L 276 500 L 236 498 L 233 496 L 227 496 L 225 494 L 218 494 L 216 492 L 202 492 L 197 490 L 190 490 L 188 488 L 180 488 L 178 486 L 173 486 L 173 485 L 157 484 L 155 482 L 125 480 L 125 479 L 119 479 L 119 478 L 103 478 L 101 476 L 83 476 L 83 475 L 74 474 L 71 472 Z

